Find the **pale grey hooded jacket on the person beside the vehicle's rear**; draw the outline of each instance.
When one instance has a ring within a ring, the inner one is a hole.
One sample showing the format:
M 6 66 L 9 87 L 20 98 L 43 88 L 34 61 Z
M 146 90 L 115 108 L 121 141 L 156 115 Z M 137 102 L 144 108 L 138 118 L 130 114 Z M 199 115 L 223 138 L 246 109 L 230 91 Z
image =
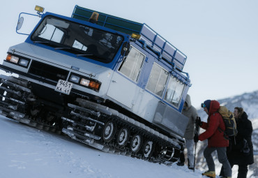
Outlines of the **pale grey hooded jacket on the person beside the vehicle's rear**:
M 197 110 L 192 106 L 189 95 L 186 96 L 185 103 L 187 103 L 187 106 L 183 109 L 182 114 L 188 117 L 189 121 L 185 129 L 184 138 L 192 140 L 195 136 L 195 119 L 197 117 Z

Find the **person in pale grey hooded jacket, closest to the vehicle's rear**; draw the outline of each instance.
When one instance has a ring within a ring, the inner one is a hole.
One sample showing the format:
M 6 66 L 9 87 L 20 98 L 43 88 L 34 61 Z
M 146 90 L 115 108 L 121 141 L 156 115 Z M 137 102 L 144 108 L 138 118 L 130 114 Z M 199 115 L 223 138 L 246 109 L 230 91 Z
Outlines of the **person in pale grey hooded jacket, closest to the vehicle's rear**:
M 190 95 L 187 95 L 185 98 L 185 103 L 183 104 L 183 111 L 182 114 L 184 114 L 186 117 L 189 118 L 188 125 L 185 129 L 185 147 L 188 151 L 188 168 L 190 170 L 194 170 L 194 136 L 195 136 L 195 119 L 197 118 L 197 110 L 195 107 L 192 106 Z M 179 162 L 177 165 L 184 165 L 185 164 L 185 154 L 183 154 L 183 149 L 181 150 L 180 156 L 179 156 Z

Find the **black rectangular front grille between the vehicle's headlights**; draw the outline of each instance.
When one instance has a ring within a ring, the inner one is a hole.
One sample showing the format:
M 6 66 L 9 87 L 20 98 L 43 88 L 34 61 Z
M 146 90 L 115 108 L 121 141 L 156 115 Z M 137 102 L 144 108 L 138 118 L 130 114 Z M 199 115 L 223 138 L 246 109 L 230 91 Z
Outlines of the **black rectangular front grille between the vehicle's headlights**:
M 32 61 L 29 73 L 57 82 L 59 79 L 66 80 L 69 72 L 38 61 Z

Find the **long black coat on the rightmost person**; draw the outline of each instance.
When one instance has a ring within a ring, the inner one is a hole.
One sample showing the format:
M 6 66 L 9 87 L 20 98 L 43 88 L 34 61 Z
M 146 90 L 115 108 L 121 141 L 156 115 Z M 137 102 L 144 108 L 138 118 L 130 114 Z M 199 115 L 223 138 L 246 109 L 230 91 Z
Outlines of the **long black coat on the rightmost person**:
M 252 122 L 248 119 L 248 115 L 243 112 L 239 119 L 236 119 L 236 143 L 234 137 L 230 137 L 229 147 L 227 148 L 227 158 L 229 163 L 233 165 L 251 165 L 254 163 L 254 154 L 252 146 Z M 250 149 L 249 154 L 244 154 L 241 149 L 243 148 L 243 139 L 248 142 Z

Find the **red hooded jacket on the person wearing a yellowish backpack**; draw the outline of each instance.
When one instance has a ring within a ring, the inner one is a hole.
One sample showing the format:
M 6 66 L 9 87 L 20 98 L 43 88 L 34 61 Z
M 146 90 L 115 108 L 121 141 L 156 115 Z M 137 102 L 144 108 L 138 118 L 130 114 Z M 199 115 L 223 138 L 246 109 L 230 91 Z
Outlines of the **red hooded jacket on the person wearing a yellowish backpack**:
M 220 103 L 218 101 L 211 101 L 210 108 L 208 110 L 208 120 L 207 123 L 202 121 L 202 128 L 206 131 L 199 135 L 199 140 L 203 141 L 208 139 L 208 147 L 228 147 L 229 140 L 224 138 L 224 133 L 219 131 L 220 127 L 225 131 L 225 123 L 222 119 L 218 109 L 220 108 Z

